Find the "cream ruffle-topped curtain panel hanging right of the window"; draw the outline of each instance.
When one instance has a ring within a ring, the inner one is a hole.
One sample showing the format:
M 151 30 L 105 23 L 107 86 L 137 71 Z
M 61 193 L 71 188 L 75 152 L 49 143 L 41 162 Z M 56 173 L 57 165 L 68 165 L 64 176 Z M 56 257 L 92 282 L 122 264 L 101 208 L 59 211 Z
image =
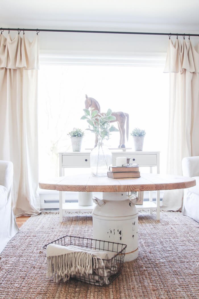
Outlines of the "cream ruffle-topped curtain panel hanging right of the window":
M 182 175 L 182 159 L 199 155 L 199 44 L 169 40 L 165 73 L 170 73 L 167 173 Z M 181 210 L 183 190 L 164 192 L 164 210 Z

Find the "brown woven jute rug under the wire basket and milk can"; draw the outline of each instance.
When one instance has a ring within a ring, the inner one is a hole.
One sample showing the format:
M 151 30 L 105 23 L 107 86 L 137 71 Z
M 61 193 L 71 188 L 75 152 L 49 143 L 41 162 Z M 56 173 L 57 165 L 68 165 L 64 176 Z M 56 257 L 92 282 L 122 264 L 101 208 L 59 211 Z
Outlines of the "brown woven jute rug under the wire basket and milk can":
M 199 223 L 180 212 L 139 213 L 139 257 L 109 286 L 46 278 L 43 245 L 64 235 L 92 237 L 92 217 L 32 216 L 1 254 L 0 298 L 199 298 Z

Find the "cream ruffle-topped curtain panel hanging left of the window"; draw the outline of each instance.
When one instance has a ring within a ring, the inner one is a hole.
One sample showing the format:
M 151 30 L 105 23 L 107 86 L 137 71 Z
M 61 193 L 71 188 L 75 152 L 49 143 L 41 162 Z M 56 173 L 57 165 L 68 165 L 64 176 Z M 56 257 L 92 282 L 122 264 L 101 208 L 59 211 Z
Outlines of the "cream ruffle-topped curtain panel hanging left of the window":
M 38 37 L 0 35 L 0 160 L 12 161 L 16 216 L 40 212 L 38 196 Z

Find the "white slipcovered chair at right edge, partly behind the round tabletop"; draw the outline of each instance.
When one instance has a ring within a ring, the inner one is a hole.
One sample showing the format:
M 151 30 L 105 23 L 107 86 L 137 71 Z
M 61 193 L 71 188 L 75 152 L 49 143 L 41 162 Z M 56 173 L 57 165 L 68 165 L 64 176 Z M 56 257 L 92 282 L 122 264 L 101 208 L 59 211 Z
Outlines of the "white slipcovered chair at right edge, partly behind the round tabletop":
M 182 213 L 199 222 L 199 156 L 183 158 L 182 171 L 196 180 L 194 187 L 184 189 Z

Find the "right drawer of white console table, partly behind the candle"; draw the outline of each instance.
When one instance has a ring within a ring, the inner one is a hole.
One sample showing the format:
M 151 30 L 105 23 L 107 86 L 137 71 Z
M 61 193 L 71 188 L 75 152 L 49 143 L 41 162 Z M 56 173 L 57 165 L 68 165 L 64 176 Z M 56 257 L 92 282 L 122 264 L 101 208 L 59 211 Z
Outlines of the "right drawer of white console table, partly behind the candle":
M 119 157 L 122 155 L 118 155 L 117 157 Z M 128 158 L 130 159 L 130 163 L 137 163 L 139 164 L 139 166 L 149 166 L 149 165 L 157 165 L 157 155 L 143 155 L 143 154 L 123 154 L 123 156 L 128 156 Z M 113 156 L 113 166 L 116 165 L 116 156 Z

